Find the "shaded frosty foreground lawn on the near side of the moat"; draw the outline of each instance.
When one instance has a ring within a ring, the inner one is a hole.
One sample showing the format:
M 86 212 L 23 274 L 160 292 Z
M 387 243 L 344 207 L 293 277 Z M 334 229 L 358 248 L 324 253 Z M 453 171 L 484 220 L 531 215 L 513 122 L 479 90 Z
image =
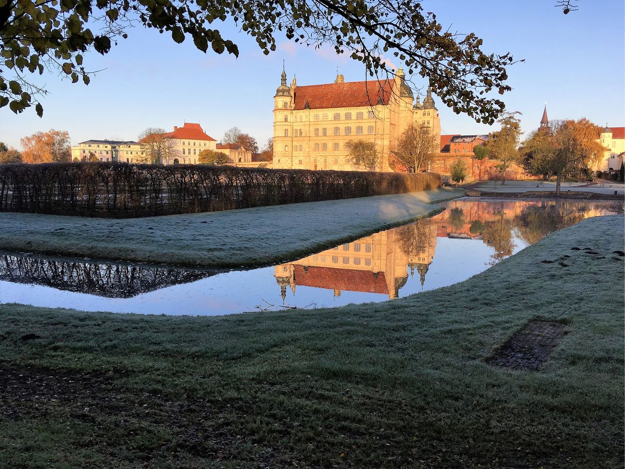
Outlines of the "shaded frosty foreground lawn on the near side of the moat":
M 623 221 L 586 219 L 386 303 L 222 317 L 0 305 L 0 467 L 622 467 Z M 541 370 L 484 362 L 535 318 L 568 332 Z

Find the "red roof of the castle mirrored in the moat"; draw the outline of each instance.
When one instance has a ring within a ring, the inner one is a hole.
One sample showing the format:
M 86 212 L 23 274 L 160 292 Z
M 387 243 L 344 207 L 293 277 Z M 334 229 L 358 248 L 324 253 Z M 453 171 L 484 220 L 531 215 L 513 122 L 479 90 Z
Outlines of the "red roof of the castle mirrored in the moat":
M 296 285 L 389 294 L 384 272 L 380 272 L 376 278 L 370 270 L 310 266 L 306 272 L 302 265 L 296 264 L 294 267 Z

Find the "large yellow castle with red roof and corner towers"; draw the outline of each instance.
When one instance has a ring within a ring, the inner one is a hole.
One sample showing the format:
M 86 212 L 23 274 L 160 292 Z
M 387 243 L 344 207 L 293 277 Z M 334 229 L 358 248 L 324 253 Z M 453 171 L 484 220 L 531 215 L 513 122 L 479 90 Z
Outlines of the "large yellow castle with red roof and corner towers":
M 423 103 L 406 83 L 404 71 L 384 81 L 345 82 L 297 86 L 293 78 L 274 96 L 273 168 L 364 170 L 353 166 L 347 141 L 362 139 L 375 144 L 376 171 L 392 171 L 389 156 L 397 138 L 411 123 L 431 126 L 440 143 L 441 121 L 428 89 Z

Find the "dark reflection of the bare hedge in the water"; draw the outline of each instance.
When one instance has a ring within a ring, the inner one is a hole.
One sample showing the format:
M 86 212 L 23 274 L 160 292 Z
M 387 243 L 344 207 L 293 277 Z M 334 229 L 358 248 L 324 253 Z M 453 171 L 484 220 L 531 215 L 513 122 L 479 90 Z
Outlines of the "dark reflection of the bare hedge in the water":
M 51 286 L 107 298 L 130 298 L 214 275 L 213 272 L 153 266 L 0 256 L 0 280 Z

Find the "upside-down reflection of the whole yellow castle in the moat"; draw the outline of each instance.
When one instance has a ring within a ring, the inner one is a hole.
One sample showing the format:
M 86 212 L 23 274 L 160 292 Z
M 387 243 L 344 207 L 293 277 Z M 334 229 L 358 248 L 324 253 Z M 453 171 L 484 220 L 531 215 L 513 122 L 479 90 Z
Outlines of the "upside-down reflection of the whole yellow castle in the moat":
M 427 221 L 366 236 L 313 256 L 275 268 L 282 300 L 286 289 L 313 286 L 341 291 L 380 293 L 397 298 L 406 285 L 408 270 L 417 270 L 421 285 L 434 258 L 436 228 Z

